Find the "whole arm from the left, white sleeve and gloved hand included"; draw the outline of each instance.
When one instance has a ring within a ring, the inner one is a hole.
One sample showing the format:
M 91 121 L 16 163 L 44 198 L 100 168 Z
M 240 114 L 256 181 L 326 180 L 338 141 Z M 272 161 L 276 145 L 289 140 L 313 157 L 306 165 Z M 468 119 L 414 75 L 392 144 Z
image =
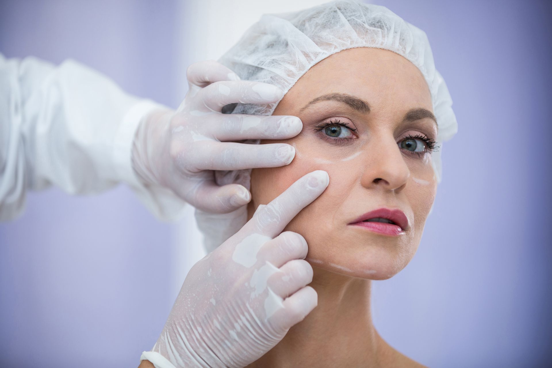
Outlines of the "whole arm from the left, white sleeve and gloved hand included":
M 270 84 L 240 81 L 215 61 L 193 64 L 178 110 L 123 92 L 75 61 L 60 66 L 0 55 L 0 220 L 23 211 L 27 190 L 55 185 L 93 194 L 131 186 L 162 220 L 184 203 L 212 213 L 236 210 L 251 195 L 240 184 L 218 186 L 214 170 L 278 167 L 295 156 L 282 140 L 302 129 L 295 116 L 223 114 L 225 105 L 278 102 Z

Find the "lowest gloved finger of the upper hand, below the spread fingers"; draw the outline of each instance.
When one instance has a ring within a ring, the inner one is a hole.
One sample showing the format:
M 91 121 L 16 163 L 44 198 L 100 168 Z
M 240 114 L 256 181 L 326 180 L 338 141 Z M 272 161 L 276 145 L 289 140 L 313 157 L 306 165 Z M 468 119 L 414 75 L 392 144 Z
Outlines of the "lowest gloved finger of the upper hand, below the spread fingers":
M 198 210 L 216 214 L 227 214 L 251 200 L 249 191 L 240 184 L 217 185 L 215 182 L 201 182 L 193 190 L 180 191 L 175 189 L 190 205 Z

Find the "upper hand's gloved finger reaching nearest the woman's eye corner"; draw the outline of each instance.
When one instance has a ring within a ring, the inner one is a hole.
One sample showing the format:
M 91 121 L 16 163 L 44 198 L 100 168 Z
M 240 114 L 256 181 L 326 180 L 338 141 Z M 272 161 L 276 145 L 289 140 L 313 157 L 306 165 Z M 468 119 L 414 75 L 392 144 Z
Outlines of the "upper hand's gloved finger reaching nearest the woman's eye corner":
M 288 139 L 298 135 L 303 127 L 296 116 L 214 114 L 208 119 L 203 128 L 219 141 Z

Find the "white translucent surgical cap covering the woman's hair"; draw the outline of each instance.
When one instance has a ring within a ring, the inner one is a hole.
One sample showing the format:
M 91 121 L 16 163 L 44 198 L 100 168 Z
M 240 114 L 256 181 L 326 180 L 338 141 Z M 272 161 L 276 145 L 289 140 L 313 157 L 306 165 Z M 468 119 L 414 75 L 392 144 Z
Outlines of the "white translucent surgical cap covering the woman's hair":
M 317 62 L 353 47 L 396 52 L 422 72 L 439 127 L 440 148 L 433 152 L 433 169 L 440 182 L 442 143 L 457 132 L 452 99 L 435 68 L 426 34 L 391 10 L 357 1 L 334 1 L 299 12 L 265 14 L 219 61 L 241 79 L 273 84 L 285 94 Z M 238 104 L 233 113 L 272 115 L 277 105 Z M 250 172 L 217 173 L 217 183 L 238 182 L 249 188 Z M 232 231 L 227 233 L 231 235 Z M 214 243 L 219 245 L 220 239 Z

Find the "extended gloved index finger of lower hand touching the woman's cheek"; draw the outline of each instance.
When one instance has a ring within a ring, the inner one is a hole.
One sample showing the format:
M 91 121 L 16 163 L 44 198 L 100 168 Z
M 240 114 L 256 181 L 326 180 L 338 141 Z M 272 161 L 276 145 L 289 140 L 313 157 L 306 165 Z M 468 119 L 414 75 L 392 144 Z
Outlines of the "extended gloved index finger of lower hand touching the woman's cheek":
M 322 194 L 329 183 L 330 177 L 323 170 L 304 175 L 291 184 L 284 193 L 259 210 L 243 229 L 249 233 L 276 237 L 295 215 Z

